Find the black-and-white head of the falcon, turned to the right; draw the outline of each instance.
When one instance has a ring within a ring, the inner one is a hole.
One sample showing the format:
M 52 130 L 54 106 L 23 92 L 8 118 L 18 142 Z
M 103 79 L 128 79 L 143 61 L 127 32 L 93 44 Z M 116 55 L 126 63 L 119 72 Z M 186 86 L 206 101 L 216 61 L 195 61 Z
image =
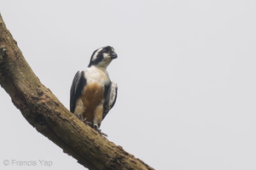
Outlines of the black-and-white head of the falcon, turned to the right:
M 116 59 L 118 55 L 114 52 L 114 49 L 110 46 L 96 49 L 90 57 L 90 64 L 97 67 L 107 68 L 113 59 Z

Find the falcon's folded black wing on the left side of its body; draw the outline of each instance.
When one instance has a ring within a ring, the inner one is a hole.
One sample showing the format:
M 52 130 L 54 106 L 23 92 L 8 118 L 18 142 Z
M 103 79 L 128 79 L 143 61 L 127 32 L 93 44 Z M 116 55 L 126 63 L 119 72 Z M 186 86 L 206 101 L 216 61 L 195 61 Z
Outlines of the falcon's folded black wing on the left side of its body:
M 86 85 L 86 78 L 84 77 L 84 71 L 78 71 L 73 77 L 72 86 L 70 89 L 70 111 L 74 112 L 76 107 L 76 101 L 81 96 L 84 86 Z

